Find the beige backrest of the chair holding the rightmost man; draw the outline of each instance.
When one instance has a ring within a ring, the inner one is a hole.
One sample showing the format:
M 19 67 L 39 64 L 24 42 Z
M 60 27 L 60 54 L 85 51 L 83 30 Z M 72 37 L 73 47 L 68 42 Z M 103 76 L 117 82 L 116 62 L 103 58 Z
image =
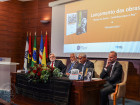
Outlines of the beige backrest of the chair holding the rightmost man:
M 128 74 L 128 61 L 118 61 L 122 65 L 122 82 L 126 83 Z

